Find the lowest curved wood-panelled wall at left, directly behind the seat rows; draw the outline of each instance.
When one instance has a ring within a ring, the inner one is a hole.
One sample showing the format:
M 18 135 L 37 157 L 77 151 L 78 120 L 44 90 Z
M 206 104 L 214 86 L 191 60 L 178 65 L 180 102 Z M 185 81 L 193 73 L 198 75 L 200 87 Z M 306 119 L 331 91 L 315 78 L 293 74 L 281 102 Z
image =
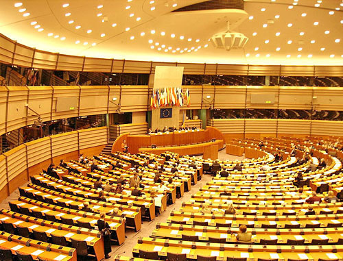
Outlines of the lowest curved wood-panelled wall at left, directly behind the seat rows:
M 27 182 L 30 175 L 47 169 L 51 162 L 76 159 L 80 153 L 93 156 L 107 142 L 107 127 L 97 127 L 40 138 L 1 154 L 0 201 Z

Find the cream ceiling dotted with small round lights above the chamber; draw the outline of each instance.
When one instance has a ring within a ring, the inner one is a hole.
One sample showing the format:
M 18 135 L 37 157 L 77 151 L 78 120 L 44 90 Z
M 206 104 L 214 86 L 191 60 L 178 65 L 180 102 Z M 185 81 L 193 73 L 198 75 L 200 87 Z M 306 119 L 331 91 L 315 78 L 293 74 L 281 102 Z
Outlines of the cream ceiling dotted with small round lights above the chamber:
M 343 0 L 245 0 L 244 11 L 171 12 L 203 1 L 0 0 L 0 33 L 36 49 L 96 58 L 343 64 Z M 244 49 L 209 42 L 227 21 L 249 38 Z

